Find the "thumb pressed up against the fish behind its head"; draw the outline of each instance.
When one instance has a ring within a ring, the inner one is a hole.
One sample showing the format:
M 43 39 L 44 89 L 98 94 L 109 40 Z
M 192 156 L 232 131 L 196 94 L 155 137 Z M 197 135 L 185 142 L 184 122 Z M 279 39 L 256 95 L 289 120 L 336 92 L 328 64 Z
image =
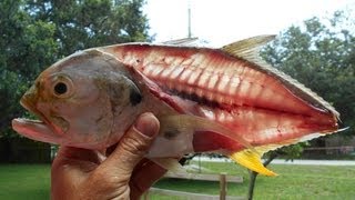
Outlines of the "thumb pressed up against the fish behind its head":
M 159 120 L 152 113 L 141 114 L 102 164 L 113 168 L 118 173 L 131 174 L 133 168 L 148 152 L 159 128 Z

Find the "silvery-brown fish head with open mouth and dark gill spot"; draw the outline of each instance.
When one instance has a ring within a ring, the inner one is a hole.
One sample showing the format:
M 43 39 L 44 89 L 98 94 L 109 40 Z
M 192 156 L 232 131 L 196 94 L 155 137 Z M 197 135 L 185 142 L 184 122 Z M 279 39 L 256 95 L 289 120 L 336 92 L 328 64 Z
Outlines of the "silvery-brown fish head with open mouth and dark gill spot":
M 40 120 L 14 119 L 13 129 L 43 142 L 89 149 L 111 146 L 112 138 L 118 138 L 112 133 L 116 112 L 124 114 L 140 94 L 123 69 L 118 60 L 95 50 L 54 63 L 20 101 Z

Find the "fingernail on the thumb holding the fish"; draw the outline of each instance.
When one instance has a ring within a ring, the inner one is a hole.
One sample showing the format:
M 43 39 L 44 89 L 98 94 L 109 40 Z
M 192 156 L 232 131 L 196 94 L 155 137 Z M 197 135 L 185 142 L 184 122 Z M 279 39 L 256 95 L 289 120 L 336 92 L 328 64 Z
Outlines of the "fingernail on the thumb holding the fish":
M 135 129 L 141 133 L 153 137 L 159 131 L 159 121 L 152 113 L 143 113 L 135 122 Z

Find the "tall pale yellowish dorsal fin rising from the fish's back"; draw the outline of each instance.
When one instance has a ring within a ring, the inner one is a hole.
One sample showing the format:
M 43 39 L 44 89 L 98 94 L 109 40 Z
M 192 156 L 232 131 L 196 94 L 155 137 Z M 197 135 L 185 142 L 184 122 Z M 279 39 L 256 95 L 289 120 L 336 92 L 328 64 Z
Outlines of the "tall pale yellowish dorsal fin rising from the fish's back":
M 257 36 L 236 41 L 222 47 L 222 51 L 246 60 L 254 60 L 258 58 L 258 50 L 267 42 L 274 40 L 275 34 Z

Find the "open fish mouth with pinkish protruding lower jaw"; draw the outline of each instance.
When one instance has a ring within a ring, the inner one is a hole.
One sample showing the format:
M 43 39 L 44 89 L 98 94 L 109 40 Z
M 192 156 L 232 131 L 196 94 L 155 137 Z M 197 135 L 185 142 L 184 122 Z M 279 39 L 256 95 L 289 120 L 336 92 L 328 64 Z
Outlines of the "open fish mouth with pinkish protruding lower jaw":
M 20 101 L 21 106 L 36 114 L 39 120 L 31 120 L 24 118 L 17 118 L 12 120 L 12 129 L 18 133 L 30 138 L 49 143 L 61 143 L 61 137 L 58 133 L 57 128 L 34 107 L 34 101 L 31 96 L 24 94 Z M 61 132 L 61 131 L 60 131 Z

